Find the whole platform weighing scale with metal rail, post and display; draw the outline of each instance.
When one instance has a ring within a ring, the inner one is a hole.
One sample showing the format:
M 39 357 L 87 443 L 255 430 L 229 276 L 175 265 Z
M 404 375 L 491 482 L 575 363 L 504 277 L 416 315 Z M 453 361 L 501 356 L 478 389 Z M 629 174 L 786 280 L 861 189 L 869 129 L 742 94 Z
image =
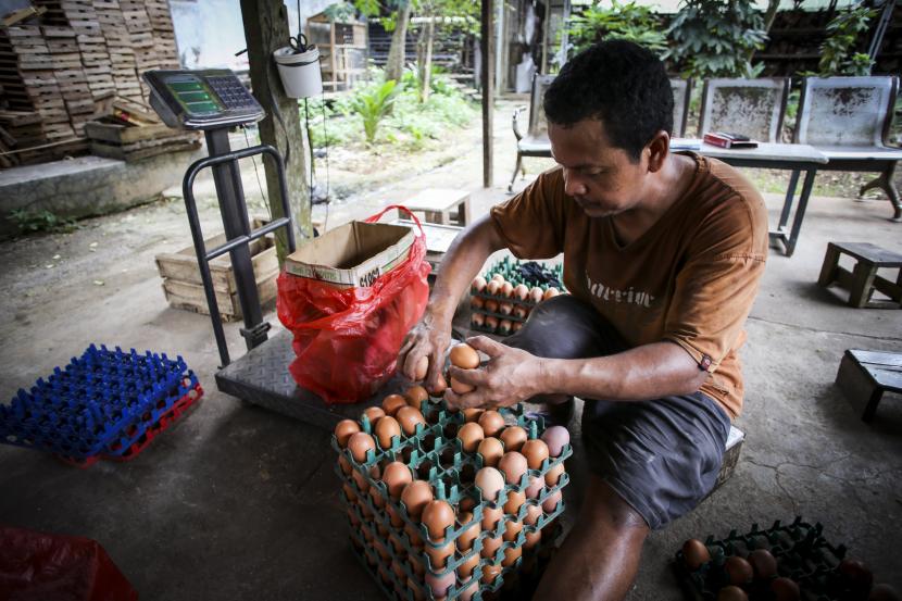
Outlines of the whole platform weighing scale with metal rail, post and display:
M 150 104 L 166 125 L 176 129 L 202 130 L 206 138 L 209 156 L 196 161 L 188 167 L 181 188 L 213 323 L 213 334 L 220 350 L 222 365 L 216 373 L 218 389 L 328 430 L 339 421 L 356 418 L 366 406 L 378 404 L 375 398 L 351 405 L 326 404 L 318 396 L 300 388 L 288 372 L 288 366 L 296 358 L 291 346 L 291 333 L 284 330 L 272 339 L 268 338 L 270 323 L 263 321 L 249 245 L 285 227 L 288 251 L 295 251 L 285 163 L 281 154 L 272 146 L 260 145 L 231 150 L 228 141 L 229 129 L 264 118 L 266 113 L 263 108 L 228 70 L 149 71 L 143 74 L 143 78 L 151 89 Z M 281 209 L 286 216 L 251 229 L 238 160 L 258 154 L 270 156 L 276 165 Z M 208 167 L 213 172 L 226 235 L 226 242 L 212 250 L 208 250 L 204 245 L 193 195 L 195 179 Z M 210 261 L 226 252 L 229 253 L 235 272 L 235 284 L 245 320 L 245 327 L 240 331 L 248 347 L 248 353 L 234 362 L 229 358 L 210 275 Z M 385 385 L 379 398 L 400 391 L 404 381 L 396 376 Z

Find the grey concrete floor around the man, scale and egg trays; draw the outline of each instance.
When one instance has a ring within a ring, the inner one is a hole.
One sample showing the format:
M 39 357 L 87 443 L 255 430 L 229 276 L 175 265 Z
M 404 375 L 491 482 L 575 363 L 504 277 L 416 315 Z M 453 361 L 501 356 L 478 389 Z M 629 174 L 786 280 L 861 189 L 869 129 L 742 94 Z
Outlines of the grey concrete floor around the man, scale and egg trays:
M 477 141 L 454 162 L 334 209 L 330 221 L 438 185 L 479 190 L 480 214 L 506 198 L 513 165 L 508 124 L 496 124 L 493 188 L 479 189 Z M 779 204 L 768 198 L 772 218 Z M 680 598 L 667 563 L 686 538 L 795 515 L 822 522 L 877 581 L 902 589 L 902 403 L 887 397 L 866 426 L 834 385 L 843 350 L 902 350 L 902 312 L 848 309 L 815 285 L 829 240 L 902 250 L 902 224 L 889 214 L 885 201 L 815 198 L 795 255 L 772 251 L 742 352 L 748 392 L 737 425 L 747 441 L 737 471 L 650 537 L 630 600 Z M 208 203 L 208 231 L 217 220 Z M 142 599 L 378 599 L 347 542 L 328 433 L 220 393 L 209 318 L 166 305 L 153 255 L 188 243 L 184 208 L 172 202 L 0 245 L 4 398 L 92 341 L 183 354 L 206 389 L 129 463 L 80 471 L 0 447 L 0 523 L 97 539 Z M 268 320 L 280 327 L 272 311 Z M 227 333 L 239 355 L 237 326 Z M 577 462 L 572 492 L 580 474 Z

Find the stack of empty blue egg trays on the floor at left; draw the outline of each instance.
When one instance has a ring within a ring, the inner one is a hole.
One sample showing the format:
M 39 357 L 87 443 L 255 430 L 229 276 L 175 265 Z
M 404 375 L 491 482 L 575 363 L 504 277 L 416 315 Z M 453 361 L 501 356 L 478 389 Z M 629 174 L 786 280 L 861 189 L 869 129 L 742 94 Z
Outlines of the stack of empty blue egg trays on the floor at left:
M 73 463 L 121 455 L 197 386 L 181 356 L 91 345 L 0 405 L 0 441 Z

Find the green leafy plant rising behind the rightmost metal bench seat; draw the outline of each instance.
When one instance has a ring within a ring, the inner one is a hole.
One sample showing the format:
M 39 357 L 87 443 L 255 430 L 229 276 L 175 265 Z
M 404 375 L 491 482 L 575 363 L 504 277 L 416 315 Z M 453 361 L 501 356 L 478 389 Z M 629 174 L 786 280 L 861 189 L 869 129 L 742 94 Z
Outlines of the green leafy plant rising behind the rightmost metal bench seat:
M 870 20 L 876 15 L 875 9 L 849 7 L 827 24 L 827 39 L 820 46 L 820 62 L 817 64 L 820 76 L 870 75 L 874 66 L 870 57 L 852 51 L 859 36 L 867 33 Z

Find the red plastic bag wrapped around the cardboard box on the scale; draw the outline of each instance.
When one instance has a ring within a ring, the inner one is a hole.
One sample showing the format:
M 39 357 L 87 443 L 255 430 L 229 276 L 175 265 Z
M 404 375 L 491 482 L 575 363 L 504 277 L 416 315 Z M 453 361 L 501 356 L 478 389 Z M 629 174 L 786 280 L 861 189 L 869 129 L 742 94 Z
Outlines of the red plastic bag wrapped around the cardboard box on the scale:
M 391 205 L 366 220 L 375 223 L 399 209 L 413 217 L 419 235 L 406 261 L 372 286 L 337 288 L 283 272 L 276 310 L 295 335 L 289 371 L 299 386 L 327 403 L 355 403 L 372 397 L 396 370 L 408 331 L 419 321 L 429 298 L 426 236 L 406 208 Z

